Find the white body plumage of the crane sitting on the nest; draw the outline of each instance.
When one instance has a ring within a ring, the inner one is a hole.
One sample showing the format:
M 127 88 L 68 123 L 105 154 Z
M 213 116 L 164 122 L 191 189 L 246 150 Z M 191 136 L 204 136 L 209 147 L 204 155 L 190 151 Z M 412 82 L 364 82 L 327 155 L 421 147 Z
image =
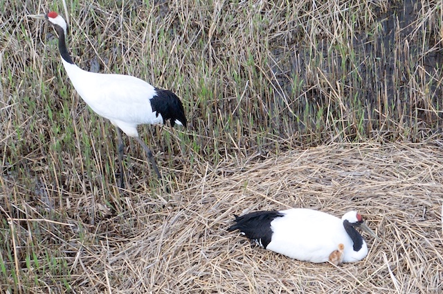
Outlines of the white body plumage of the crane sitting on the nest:
M 315 263 L 328 261 L 329 254 L 337 250 L 340 243 L 345 246 L 343 262 L 359 261 L 368 254 L 364 240 L 361 250 L 354 251 L 354 243 L 343 227 L 343 219 L 311 209 L 280 212 L 284 216 L 271 222 L 273 235 L 266 247 L 268 250 Z

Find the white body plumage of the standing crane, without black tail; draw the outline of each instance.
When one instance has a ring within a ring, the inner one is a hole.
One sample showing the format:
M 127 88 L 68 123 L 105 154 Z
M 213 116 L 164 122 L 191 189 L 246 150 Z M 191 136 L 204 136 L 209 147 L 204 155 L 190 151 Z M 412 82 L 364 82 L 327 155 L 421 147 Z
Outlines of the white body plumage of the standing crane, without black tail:
M 97 74 L 84 71 L 63 58 L 62 62 L 84 102 L 126 135 L 138 137 L 137 126 L 143 123 L 163 123 L 161 114 L 153 112 L 150 104 L 150 98 L 156 95 L 155 88 L 144 80 L 120 74 Z M 181 125 L 178 120 L 175 123 Z

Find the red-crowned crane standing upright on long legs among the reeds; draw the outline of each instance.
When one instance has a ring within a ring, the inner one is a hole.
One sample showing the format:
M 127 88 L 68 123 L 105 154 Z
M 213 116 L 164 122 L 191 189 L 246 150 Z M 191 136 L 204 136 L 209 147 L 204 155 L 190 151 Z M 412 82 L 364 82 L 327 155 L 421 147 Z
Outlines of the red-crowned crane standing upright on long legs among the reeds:
M 58 35 L 58 48 L 66 73 L 75 90 L 96 114 L 109 119 L 116 127 L 118 137 L 118 165 L 120 168 L 120 188 L 123 188 L 123 149 L 122 130 L 133 137 L 145 150 L 155 173 L 161 174 L 149 147 L 138 137 L 137 126 L 141 124 L 162 124 L 170 120 L 186 128 L 186 116 L 179 97 L 169 90 L 159 89 L 134 76 L 121 74 L 98 74 L 84 71 L 74 64 L 66 47 L 66 21 L 51 11 L 46 15 L 28 15 L 35 19 L 45 19 Z

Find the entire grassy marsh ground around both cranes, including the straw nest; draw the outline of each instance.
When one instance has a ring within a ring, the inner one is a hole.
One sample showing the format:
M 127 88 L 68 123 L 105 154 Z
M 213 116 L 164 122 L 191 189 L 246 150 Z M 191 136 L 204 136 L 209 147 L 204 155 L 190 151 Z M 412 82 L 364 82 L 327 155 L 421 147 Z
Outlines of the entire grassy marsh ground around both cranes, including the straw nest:
M 441 1 L 68 1 L 82 68 L 172 89 L 188 129 L 117 140 L 64 72 L 62 2 L 0 3 L 0 293 L 442 293 Z M 440 178 L 441 177 L 441 178 Z M 233 214 L 358 210 L 340 268 L 226 232 Z

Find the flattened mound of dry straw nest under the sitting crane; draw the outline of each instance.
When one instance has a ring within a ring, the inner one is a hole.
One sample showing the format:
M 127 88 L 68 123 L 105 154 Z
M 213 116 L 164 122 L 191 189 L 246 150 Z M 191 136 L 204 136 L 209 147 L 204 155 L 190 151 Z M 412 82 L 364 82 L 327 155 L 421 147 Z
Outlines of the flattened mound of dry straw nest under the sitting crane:
M 170 200 L 127 198 L 125 221 L 114 216 L 67 241 L 75 291 L 441 293 L 442 158 L 437 145 L 336 144 L 196 168 Z M 226 232 L 233 214 L 289 207 L 356 209 L 382 241 L 363 235 L 368 257 L 337 268 Z

